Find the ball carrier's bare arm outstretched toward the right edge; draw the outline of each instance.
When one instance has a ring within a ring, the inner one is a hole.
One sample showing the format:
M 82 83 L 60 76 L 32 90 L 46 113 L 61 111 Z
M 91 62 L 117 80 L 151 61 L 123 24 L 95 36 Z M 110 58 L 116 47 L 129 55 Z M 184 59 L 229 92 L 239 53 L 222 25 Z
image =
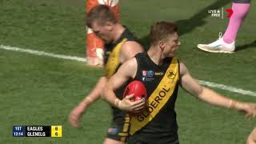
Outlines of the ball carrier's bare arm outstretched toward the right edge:
M 238 102 L 233 99 L 226 98 L 221 94 L 214 92 L 214 90 L 201 86 L 194 78 L 191 77 L 183 63 L 180 64 L 180 76 L 180 85 L 182 88 L 202 101 L 208 102 L 214 106 L 242 110 L 246 112 L 246 116 L 254 117 L 256 115 L 256 105 L 254 103 Z

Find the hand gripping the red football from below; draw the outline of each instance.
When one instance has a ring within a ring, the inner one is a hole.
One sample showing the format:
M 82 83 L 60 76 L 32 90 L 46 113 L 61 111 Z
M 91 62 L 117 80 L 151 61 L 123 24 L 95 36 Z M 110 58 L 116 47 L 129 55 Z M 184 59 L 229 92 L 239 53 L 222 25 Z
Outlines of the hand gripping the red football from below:
M 122 99 L 122 101 L 118 102 L 118 108 L 133 113 L 137 113 L 138 111 L 142 110 L 145 106 L 145 102 L 142 99 L 136 102 L 131 102 L 132 98 L 134 98 L 134 94 L 127 95 Z

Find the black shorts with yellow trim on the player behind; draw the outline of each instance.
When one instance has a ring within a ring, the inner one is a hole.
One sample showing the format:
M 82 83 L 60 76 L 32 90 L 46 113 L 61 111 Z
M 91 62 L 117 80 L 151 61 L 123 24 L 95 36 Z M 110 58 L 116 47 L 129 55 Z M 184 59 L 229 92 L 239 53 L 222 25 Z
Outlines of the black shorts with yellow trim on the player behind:
M 128 137 L 130 117 L 128 114 L 123 118 L 114 118 L 112 124 L 107 130 L 107 138 L 114 139 L 120 142 L 126 142 Z

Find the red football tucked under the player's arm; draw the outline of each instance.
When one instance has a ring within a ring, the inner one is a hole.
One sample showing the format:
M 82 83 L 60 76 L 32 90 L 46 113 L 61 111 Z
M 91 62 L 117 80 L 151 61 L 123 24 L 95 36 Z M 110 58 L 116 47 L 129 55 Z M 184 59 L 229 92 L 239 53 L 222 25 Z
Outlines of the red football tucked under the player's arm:
M 130 82 L 126 86 L 126 90 L 123 93 L 123 98 L 125 98 L 127 95 L 134 94 L 134 98 L 131 99 L 131 102 L 136 102 L 140 99 L 143 99 L 144 102 L 146 102 L 147 93 L 146 93 L 146 87 L 143 85 L 140 81 L 133 81 Z

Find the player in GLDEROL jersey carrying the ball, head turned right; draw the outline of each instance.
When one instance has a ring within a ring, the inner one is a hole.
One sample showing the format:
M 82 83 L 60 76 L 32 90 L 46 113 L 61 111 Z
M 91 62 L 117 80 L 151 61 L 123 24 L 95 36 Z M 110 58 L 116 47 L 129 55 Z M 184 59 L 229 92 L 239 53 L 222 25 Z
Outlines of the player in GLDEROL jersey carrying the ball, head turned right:
M 172 22 L 156 22 L 150 29 L 150 49 L 123 63 L 110 78 L 102 97 L 121 110 L 138 112 L 143 102 L 132 103 L 129 98 L 119 99 L 117 90 L 129 80 L 141 81 L 148 92 L 146 109 L 130 115 L 130 137 L 128 144 L 178 144 L 178 123 L 174 110 L 178 87 L 214 106 L 241 110 L 247 116 L 256 115 L 253 103 L 238 102 L 217 94 L 198 84 L 190 76 L 185 64 L 175 57 L 181 44 L 178 28 Z

